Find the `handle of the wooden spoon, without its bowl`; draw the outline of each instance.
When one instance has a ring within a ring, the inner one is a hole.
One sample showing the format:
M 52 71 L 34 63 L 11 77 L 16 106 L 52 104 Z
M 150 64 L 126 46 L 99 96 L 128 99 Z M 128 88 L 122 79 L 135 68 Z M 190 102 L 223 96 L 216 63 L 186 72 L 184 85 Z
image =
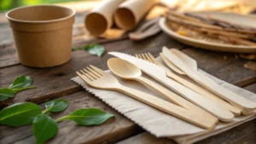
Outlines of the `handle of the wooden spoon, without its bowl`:
M 171 90 L 166 89 L 165 87 L 161 86 L 160 84 L 156 84 L 153 81 L 149 80 L 148 78 L 138 77 L 135 80 L 138 82 L 147 85 L 150 89 L 154 89 L 160 95 L 165 96 L 168 100 L 172 101 L 172 103 L 186 108 L 190 111 L 198 112 L 198 113 L 205 113 L 207 115 L 207 118 L 217 119 L 216 117 L 212 116 L 212 114 L 206 112 L 205 110 L 201 109 L 200 107 L 195 106 L 190 101 L 185 100 L 183 97 L 173 93 Z

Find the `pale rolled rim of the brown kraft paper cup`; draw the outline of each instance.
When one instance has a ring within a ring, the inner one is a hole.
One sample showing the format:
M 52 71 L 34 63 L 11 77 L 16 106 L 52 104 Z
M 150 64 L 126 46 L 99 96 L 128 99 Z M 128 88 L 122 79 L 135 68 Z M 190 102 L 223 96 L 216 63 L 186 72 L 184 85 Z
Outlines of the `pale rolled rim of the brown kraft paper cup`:
M 17 9 L 24 9 L 24 8 L 30 8 L 30 7 L 42 7 L 42 6 L 43 7 L 58 7 L 58 8 L 61 8 L 61 9 L 68 9 L 68 10 L 72 11 L 72 14 L 70 14 L 66 17 L 63 17 L 61 19 L 55 19 L 55 20 L 17 20 L 17 19 L 9 17 L 9 14 L 11 12 L 17 10 Z M 44 23 L 54 23 L 54 22 L 59 22 L 59 21 L 63 21 L 63 20 L 68 20 L 68 19 L 72 18 L 74 16 L 74 14 L 76 14 L 75 10 L 67 8 L 67 7 L 52 5 L 52 4 L 41 4 L 41 5 L 33 5 L 33 6 L 23 6 L 23 7 L 11 9 L 11 10 L 9 10 L 9 12 L 7 12 L 5 14 L 5 16 L 8 20 L 12 20 L 12 21 L 15 21 L 15 22 L 31 23 L 31 24 L 44 24 Z

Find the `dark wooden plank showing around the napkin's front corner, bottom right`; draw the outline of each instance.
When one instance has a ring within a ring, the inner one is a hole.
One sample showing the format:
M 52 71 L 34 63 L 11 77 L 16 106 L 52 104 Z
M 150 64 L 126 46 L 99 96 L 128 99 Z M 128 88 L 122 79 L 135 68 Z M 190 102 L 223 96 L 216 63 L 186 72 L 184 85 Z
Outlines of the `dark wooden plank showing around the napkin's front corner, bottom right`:
M 253 121 L 241 124 L 234 129 L 228 130 L 219 135 L 214 135 L 196 142 L 196 144 L 255 144 L 256 142 L 256 119 Z M 124 141 L 119 141 L 117 144 L 175 144 L 176 142 L 166 138 L 156 138 L 148 132 L 132 136 Z

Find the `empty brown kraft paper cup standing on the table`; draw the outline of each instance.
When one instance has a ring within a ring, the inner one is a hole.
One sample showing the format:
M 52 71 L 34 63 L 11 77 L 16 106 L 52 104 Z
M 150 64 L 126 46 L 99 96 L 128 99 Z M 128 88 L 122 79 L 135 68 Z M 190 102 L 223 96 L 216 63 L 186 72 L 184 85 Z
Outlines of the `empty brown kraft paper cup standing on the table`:
M 6 17 L 20 63 L 32 67 L 61 65 L 71 58 L 73 9 L 55 5 L 20 7 Z

